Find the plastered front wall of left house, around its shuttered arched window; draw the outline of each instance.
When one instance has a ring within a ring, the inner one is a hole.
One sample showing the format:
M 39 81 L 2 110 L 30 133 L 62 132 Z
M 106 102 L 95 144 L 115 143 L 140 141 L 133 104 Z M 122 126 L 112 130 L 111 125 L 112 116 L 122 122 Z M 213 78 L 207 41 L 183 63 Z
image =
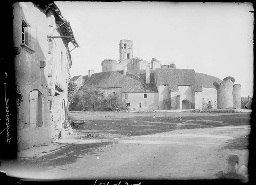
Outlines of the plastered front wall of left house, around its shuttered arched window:
M 13 45 L 21 48 L 21 53 L 14 59 L 17 90 L 22 98 L 17 107 L 17 142 L 18 150 L 24 150 L 51 141 L 49 83 L 46 80 L 49 66 L 46 63 L 45 68 L 40 68 L 40 61 L 48 59 L 48 20 L 46 14 L 30 2 L 14 3 L 13 7 Z M 31 48 L 34 51 L 21 46 L 22 18 L 31 26 Z M 44 100 L 43 124 L 37 128 L 29 128 L 29 92 L 32 90 L 40 91 Z

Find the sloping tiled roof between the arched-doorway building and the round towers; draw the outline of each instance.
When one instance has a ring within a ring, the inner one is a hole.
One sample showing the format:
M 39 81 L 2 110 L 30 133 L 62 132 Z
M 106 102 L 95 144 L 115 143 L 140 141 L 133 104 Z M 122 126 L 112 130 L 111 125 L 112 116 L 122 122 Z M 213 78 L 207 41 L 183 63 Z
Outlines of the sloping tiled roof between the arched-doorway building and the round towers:
M 220 83 L 222 82 L 221 79 L 208 74 L 204 74 L 204 73 L 196 73 L 196 76 L 197 76 L 198 82 L 203 87 L 207 87 L 207 88 L 218 89 L 220 86 Z

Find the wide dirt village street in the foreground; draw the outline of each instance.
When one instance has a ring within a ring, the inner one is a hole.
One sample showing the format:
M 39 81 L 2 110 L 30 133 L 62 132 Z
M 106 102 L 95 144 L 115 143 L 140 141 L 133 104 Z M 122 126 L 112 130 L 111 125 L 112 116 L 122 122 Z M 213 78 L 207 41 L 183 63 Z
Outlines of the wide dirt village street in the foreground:
M 249 133 L 250 125 L 240 125 L 98 142 L 77 139 L 57 155 L 7 171 L 12 176 L 22 172 L 23 177 L 43 179 L 215 179 L 231 153 L 239 155 L 240 164 L 248 165 L 248 150 L 224 147 Z

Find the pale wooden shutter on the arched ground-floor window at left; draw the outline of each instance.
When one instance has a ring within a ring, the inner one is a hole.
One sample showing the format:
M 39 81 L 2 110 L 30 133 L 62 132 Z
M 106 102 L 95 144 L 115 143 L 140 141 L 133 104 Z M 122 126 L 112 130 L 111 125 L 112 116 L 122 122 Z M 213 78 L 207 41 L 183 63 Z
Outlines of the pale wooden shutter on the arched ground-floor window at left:
M 29 128 L 36 128 L 37 125 L 37 91 L 30 92 L 29 99 Z

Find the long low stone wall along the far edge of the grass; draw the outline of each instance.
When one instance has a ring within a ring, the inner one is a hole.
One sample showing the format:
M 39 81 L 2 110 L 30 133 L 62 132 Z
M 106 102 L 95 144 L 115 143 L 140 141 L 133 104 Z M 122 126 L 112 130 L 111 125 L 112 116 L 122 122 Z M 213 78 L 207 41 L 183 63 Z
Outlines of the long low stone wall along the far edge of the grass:
M 144 110 L 144 111 L 69 111 L 69 113 L 86 113 L 86 112 L 245 112 L 251 113 L 250 109 L 173 109 L 173 110 Z

